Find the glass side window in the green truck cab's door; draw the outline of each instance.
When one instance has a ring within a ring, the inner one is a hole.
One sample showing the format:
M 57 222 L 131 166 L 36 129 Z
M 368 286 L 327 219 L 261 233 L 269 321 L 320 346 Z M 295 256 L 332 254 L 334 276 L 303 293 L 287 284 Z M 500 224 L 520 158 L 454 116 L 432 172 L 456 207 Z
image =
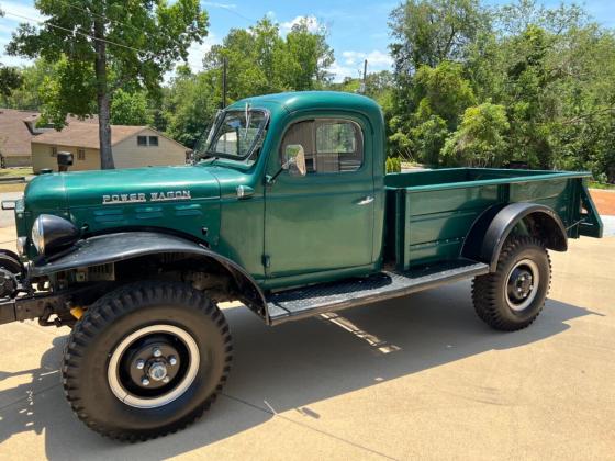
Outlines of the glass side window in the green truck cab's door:
M 281 164 L 287 146 L 303 147 L 308 175 L 351 172 L 364 162 L 362 132 L 349 120 L 315 119 L 291 125 L 280 148 Z

